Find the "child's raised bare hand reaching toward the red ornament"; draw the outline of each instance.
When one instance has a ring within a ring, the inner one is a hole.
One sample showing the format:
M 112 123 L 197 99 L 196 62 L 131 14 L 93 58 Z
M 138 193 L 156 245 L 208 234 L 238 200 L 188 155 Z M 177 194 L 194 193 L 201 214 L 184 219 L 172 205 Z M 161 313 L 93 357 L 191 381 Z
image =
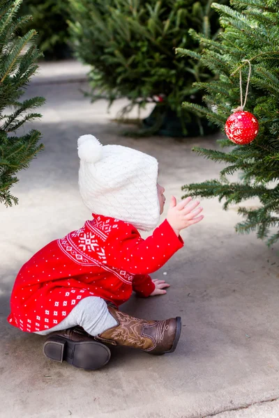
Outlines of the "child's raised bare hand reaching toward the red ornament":
M 172 196 L 172 200 L 169 205 L 167 212 L 167 222 L 172 226 L 172 229 L 178 236 L 181 229 L 188 228 L 188 226 L 197 224 L 204 216 L 197 216 L 202 212 L 203 208 L 197 208 L 199 201 L 191 201 L 190 196 L 187 199 L 183 199 L 181 202 L 176 204 L 176 199 Z

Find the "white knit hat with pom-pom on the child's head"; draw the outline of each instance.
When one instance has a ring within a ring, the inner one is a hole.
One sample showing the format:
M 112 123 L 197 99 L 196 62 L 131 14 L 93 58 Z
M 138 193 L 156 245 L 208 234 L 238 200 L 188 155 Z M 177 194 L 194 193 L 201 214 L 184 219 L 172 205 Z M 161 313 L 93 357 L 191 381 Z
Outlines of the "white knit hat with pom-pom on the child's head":
M 156 158 L 121 145 L 100 144 L 93 135 L 77 141 L 79 186 L 91 212 L 122 219 L 141 231 L 160 217 Z

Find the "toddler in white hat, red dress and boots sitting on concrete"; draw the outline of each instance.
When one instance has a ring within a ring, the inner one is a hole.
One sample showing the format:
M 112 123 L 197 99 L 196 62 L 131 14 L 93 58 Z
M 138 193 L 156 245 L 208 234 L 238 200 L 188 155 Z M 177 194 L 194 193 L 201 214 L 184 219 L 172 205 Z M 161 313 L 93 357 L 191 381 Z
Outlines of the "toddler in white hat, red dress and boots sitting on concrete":
M 154 157 L 92 135 L 78 140 L 79 186 L 92 219 L 40 249 L 17 274 L 8 321 L 47 335 L 45 355 L 95 370 L 110 360 L 108 344 L 172 353 L 181 318 L 142 320 L 119 311 L 132 291 L 162 295 L 169 284 L 149 276 L 181 247 L 181 229 L 203 219 L 198 201 L 172 201 L 163 213 Z M 138 230 L 153 234 L 143 240 Z M 50 335 L 48 335 L 50 334 Z

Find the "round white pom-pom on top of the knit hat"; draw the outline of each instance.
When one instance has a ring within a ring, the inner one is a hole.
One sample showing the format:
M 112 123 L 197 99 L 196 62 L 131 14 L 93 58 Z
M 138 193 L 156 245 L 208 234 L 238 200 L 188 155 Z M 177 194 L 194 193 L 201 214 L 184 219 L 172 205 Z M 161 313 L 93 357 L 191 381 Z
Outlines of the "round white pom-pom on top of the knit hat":
M 93 135 L 82 135 L 77 140 L 77 153 L 80 160 L 93 164 L 103 157 L 103 145 Z

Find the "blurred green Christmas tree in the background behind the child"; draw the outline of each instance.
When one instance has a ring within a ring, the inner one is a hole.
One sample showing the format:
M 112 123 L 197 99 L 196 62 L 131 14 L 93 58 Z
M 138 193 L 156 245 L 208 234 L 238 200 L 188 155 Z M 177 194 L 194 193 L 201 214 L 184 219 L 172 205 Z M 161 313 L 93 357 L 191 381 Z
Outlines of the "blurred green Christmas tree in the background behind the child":
M 183 134 L 209 130 L 206 120 L 181 109 L 181 102 L 188 98 L 202 104 L 202 93 L 193 82 L 209 79 L 211 71 L 201 70 L 191 58 L 185 62 L 176 56 L 175 48 L 200 50 L 199 42 L 188 36 L 189 28 L 206 38 L 216 36 L 220 26 L 218 14 L 210 7 L 213 0 L 69 1 L 73 49 L 92 66 L 92 100 L 107 98 L 112 103 L 128 98 L 121 116 L 135 105 L 156 103 L 141 134 L 164 134 L 165 118 L 168 123 L 179 119 Z M 172 133 L 179 136 L 179 127 Z

